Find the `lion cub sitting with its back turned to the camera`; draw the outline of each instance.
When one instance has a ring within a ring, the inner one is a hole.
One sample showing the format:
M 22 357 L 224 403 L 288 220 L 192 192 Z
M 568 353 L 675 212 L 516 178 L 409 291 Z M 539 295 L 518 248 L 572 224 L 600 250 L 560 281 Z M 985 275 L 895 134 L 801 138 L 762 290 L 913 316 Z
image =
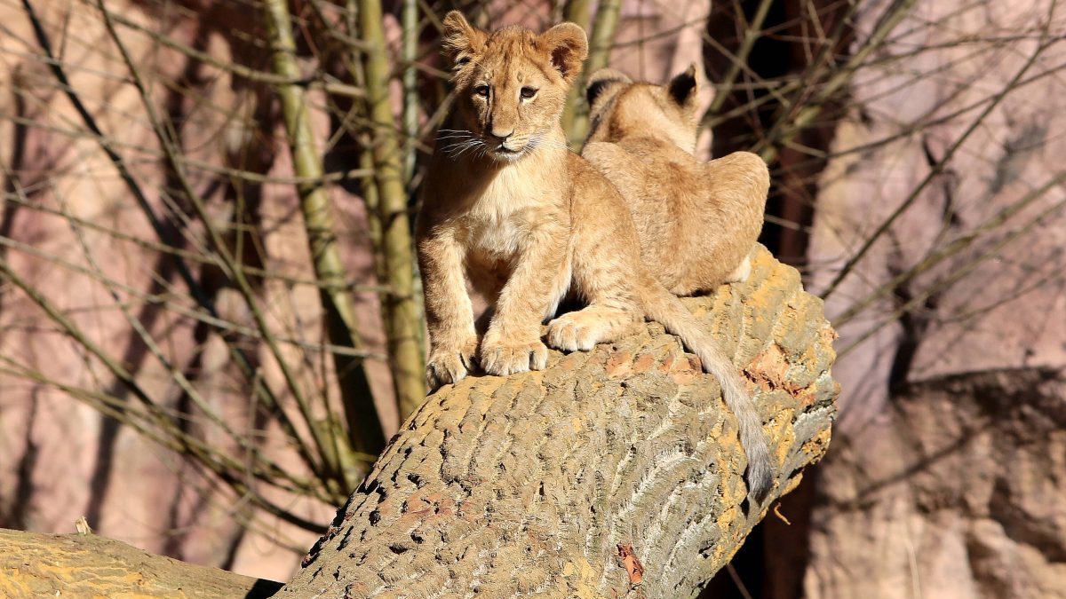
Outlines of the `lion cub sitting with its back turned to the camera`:
M 770 189 L 754 153 L 693 156 L 696 91 L 695 66 L 666 85 L 604 68 L 586 90 L 592 127 L 581 155 L 621 193 L 644 263 L 677 295 L 747 279 Z

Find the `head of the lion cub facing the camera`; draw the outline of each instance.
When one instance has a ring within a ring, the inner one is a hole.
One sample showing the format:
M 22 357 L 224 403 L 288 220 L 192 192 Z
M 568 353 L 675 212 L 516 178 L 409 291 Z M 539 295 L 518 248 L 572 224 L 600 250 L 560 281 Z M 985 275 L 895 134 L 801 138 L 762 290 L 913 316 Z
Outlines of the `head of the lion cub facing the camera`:
M 452 61 L 456 129 L 441 130 L 438 148 L 473 150 L 513 161 L 555 144 L 566 93 L 588 54 L 585 32 L 571 22 L 536 34 L 520 27 L 491 33 L 458 11 L 445 17 L 442 47 Z

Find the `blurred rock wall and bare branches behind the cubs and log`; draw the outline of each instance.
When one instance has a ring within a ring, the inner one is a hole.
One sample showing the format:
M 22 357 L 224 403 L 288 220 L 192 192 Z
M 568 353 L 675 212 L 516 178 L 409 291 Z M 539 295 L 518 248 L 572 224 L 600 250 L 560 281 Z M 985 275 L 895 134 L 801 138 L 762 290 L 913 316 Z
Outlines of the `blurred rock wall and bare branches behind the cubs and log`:
M 695 63 L 701 156 L 771 167 L 840 418 L 708 596 L 1066 597 L 1054 0 L 0 0 L 0 527 L 298 567 L 425 392 L 450 9 Z

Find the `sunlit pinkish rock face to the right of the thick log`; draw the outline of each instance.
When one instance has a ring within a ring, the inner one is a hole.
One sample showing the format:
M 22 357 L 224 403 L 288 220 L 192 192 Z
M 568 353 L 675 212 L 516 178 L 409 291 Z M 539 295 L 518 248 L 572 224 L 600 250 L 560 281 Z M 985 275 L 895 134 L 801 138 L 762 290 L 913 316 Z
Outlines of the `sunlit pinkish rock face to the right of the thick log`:
M 813 292 L 914 201 L 826 302 L 843 393 L 807 597 L 1066 597 L 1066 49 L 1041 47 L 1066 21 L 1045 30 L 1050 10 L 919 2 L 856 75 L 815 208 Z

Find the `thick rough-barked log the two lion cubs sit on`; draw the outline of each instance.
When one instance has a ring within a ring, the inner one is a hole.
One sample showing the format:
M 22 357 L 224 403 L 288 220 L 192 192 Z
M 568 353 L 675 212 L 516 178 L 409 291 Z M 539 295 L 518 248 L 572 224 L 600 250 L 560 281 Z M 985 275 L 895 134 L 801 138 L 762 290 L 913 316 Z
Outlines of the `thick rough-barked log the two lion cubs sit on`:
M 685 302 L 743 366 L 788 492 L 836 409 L 821 301 L 760 247 L 747 284 Z M 765 514 L 744 468 L 717 384 L 649 324 L 431 395 L 279 596 L 691 597 Z

